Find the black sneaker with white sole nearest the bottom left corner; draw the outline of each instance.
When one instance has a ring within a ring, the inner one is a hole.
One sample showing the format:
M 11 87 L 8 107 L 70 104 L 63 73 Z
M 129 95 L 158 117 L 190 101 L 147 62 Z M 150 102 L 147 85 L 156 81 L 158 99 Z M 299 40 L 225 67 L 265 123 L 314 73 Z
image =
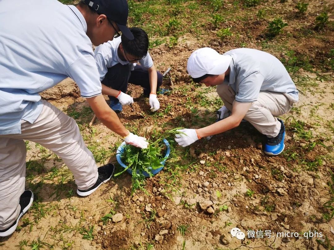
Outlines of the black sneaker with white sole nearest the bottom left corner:
M 34 200 L 34 194 L 30 190 L 25 190 L 23 194 L 21 194 L 19 202 L 21 206 L 20 214 L 17 217 L 17 219 L 13 222 L 13 224 L 11 224 L 6 229 L 0 230 L 0 237 L 6 237 L 14 233 L 17 224 L 19 223 L 19 219 L 21 219 L 23 214 L 25 214 L 31 207 L 33 200 Z

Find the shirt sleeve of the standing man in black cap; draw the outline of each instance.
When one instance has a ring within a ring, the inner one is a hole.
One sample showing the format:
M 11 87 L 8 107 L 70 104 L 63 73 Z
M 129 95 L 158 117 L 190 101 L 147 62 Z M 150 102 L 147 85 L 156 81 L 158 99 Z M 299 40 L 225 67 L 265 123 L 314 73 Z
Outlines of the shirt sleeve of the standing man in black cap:
M 76 82 L 82 97 L 89 98 L 102 94 L 99 72 L 92 54 L 82 53 L 65 73 Z

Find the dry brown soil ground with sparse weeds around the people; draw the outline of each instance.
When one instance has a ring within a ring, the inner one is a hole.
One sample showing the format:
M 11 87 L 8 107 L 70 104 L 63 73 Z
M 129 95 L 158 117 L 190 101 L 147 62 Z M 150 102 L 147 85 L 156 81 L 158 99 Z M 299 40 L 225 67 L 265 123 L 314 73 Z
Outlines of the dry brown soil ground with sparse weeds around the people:
M 146 2 L 132 1 L 130 13 L 137 13 Z M 158 1 L 151 2 L 156 8 Z M 175 10 L 174 2 L 180 9 Z M 207 12 L 210 8 L 214 12 L 216 3 L 220 3 L 216 12 L 225 15 L 217 29 Z M 171 157 L 162 172 L 147 179 L 147 193 L 131 196 L 131 176 L 124 173 L 80 198 L 61 159 L 27 142 L 26 186 L 36 199 L 14 234 L 1 239 L 0 249 L 333 249 L 333 209 L 324 207 L 327 201 L 334 205 L 333 28 L 314 29 L 321 11 L 332 20 L 333 3 L 310 1 L 302 16 L 296 14 L 296 3 L 266 1 L 246 8 L 236 1 L 161 1 L 166 13 L 171 11 L 168 15 L 182 14 L 179 20 L 188 26 L 173 36 L 175 40 L 169 40 L 171 34 L 151 34 L 156 46 L 150 53 L 156 67 L 162 72 L 172 67 L 172 82 L 164 79 L 172 92 L 158 96 L 161 108 L 153 114 L 142 90 L 130 86 L 134 107 L 145 118 L 128 106 L 119 114 L 130 131 L 156 137 L 175 127 L 210 124 L 222 103 L 213 88 L 191 83 L 186 73 L 191 52 L 204 46 L 220 53 L 236 47 L 261 49 L 285 63 L 300 90 L 300 101 L 282 117 L 284 153 L 265 155 L 262 135 L 243 123 L 186 148 L 171 140 Z M 197 20 L 197 26 L 189 21 L 195 4 L 197 11 L 206 6 L 207 15 Z M 265 10 L 264 17 L 257 16 L 259 10 Z M 151 30 L 146 14 L 141 13 L 141 26 Z M 168 15 L 156 23 L 164 27 Z M 268 39 L 266 27 L 277 16 L 289 25 L 283 34 Z M 130 14 L 130 22 L 138 25 L 136 18 Z M 218 30 L 226 27 L 232 35 L 219 38 Z M 77 121 L 98 165 L 112 162 L 120 171 L 115 157 L 120 137 L 98 120 L 88 127 L 93 113 L 71 79 L 41 95 Z M 231 237 L 234 227 L 245 233 L 244 240 Z M 284 232 L 299 237 L 277 234 Z

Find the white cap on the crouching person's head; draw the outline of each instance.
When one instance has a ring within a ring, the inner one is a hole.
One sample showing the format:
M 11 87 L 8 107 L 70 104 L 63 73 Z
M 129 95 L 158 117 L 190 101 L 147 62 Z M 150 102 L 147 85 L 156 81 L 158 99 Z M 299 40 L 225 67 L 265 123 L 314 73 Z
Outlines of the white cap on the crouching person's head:
M 188 58 L 187 70 L 192 78 L 205 74 L 220 75 L 228 69 L 231 59 L 231 56 L 220 55 L 214 49 L 200 48 L 192 52 Z

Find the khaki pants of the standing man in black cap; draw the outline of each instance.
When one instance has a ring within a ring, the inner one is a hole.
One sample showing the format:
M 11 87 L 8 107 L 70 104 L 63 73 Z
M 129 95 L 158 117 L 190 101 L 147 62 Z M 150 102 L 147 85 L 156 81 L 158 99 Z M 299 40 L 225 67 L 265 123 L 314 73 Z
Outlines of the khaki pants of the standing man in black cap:
M 52 150 L 73 173 L 79 189 L 92 187 L 98 167 L 74 119 L 46 101 L 34 123 L 21 120 L 21 134 L 0 135 L 0 229 L 10 226 L 20 212 L 25 187 L 26 146 L 29 140 Z

